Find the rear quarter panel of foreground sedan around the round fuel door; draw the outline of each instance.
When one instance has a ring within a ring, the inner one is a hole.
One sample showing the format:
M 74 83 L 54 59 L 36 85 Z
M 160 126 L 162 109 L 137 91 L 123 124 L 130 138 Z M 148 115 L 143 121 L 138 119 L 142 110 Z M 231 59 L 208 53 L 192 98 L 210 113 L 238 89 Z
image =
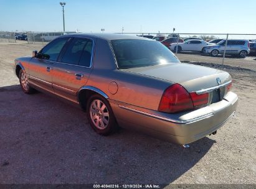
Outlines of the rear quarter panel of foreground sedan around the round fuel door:
M 110 93 L 110 83 L 116 83 L 116 93 Z M 130 73 L 123 70 L 105 71 L 95 69 L 90 75 L 89 86 L 94 86 L 110 99 L 141 108 L 158 110 L 162 94 L 170 81 L 159 80 L 150 76 Z

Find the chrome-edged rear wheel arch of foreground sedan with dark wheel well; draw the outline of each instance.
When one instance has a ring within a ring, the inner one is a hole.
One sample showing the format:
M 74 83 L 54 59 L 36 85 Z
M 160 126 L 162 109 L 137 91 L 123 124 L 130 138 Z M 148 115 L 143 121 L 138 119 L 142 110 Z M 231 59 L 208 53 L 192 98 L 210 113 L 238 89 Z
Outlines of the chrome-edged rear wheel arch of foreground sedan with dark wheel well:
M 99 90 L 98 88 L 95 88 L 93 86 L 83 86 L 77 93 L 77 101 L 83 111 L 86 110 L 87 101 L 93 94 L 100 94 L 100 96 L 102 96 L 103 98 L 108 99 L 108 95 L 102 90 Z

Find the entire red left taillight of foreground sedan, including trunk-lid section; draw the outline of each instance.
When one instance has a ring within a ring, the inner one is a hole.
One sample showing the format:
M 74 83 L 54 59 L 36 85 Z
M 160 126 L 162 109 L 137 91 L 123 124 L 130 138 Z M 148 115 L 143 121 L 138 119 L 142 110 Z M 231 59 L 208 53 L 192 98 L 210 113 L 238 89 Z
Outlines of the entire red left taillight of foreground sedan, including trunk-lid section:
M 188 93 L 183 86 L 174 84 L 164 91 L 158 111 L 178 113 L 179 111 L 186 111 L 196 106 L 207 104 L 208 101 L 209 93 Z

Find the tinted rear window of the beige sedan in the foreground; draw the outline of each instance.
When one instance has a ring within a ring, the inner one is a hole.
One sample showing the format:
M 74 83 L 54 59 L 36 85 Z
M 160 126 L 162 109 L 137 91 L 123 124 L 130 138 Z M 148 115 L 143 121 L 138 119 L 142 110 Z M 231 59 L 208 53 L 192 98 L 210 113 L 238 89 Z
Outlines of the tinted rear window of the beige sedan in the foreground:
M 179 63 L 168 48 L 154 40 L 111 40 L 111 45 L 121 69 Z

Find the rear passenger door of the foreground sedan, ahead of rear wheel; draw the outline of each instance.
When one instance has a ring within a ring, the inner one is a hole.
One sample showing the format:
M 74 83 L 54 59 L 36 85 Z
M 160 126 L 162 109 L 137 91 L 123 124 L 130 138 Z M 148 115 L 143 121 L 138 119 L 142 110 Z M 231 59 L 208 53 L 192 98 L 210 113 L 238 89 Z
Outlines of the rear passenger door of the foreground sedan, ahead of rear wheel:
M 54 63 L 52 86 L 54 93 L 77 102 L 77 91 L 86 85 L 92 70 L 93 40 L 73 37 Z

